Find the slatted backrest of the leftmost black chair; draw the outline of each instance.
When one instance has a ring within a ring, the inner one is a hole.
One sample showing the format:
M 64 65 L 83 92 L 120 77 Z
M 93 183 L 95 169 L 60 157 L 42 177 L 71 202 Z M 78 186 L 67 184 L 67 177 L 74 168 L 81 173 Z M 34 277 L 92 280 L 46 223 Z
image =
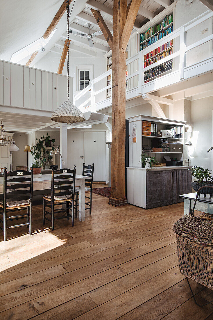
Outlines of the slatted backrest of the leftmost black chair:
M 31 172 L 25 170 L 7 172 L 6 169 L 4 168 L 4 208 L 6 208 L 6 203 L 9 201 L 30 199 L 32 203 L 33 170 Z

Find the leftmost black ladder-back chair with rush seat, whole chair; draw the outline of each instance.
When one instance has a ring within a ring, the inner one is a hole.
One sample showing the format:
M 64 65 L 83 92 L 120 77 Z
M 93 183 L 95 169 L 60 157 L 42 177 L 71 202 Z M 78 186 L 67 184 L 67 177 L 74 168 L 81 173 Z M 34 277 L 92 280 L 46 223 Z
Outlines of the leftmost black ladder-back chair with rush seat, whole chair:
M 0 213 L 3 215 L 4 241 L 7 240 L 7 229 L 27 226 L 29 227 L 29 234 L 32 235 L 32 197 L 33 197 L 33 170 L 31 172 L 25 170 L 18 170 L 6 172 L 4 168 L 4 198 L 0 202 Z M 12 177 L 8 179 L 8 177 Z M 14 183 L 15 182 L 15 183 Z M 14 184 L 13 184 L 14 183 Z M 26 208 L 27 214 L 17 214 L 8 216 L 8 212 L 13 212 L 18 209 Z M 7 227 L 7 221 L 27 218 L 26 223 L 16 224 Z

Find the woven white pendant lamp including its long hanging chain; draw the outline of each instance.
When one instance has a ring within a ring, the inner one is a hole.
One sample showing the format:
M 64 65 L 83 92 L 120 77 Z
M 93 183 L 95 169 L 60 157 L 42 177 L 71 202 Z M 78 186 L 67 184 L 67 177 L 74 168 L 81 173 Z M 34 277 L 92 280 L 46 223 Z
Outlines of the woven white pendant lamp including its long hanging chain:
M 69 0 L 67 0 L 67 101 L 53 111 L 51 120 L 68 124 L 86 120 L 83 113 L 69 101 Z

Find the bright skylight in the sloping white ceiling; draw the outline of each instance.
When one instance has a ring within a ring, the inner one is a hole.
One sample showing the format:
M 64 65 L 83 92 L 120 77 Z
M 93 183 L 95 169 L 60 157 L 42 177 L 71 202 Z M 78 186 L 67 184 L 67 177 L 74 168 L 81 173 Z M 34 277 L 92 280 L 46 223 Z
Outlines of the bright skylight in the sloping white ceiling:
M 26 47 L 13 53 L 10 59 L 10 62 L 18 63 L 22 59 L 28 57 L 28 55 L 37 51 L 39 48 L 44 47 L 46 44 L 48 44 L 48 42 L 50 41 L 51 37 L 54 35 L 56 30 L 57 28 L 51 32 L 50 36 L 47 39 L 44 39 L 43 37 L 41 37 L 40 39 L 35 40 L 31 44 L 28 44 Z

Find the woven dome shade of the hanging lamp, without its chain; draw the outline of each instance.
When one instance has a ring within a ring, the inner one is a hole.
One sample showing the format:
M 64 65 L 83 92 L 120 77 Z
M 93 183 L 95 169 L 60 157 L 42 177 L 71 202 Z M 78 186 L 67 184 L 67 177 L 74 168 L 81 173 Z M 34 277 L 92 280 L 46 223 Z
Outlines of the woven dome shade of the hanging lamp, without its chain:
M 67 100 L 53 111 L 51 120 L 56 122 L 75 123 L 85 121 L 86 119 L 83 113 L 76 108 L 71 101 Z

